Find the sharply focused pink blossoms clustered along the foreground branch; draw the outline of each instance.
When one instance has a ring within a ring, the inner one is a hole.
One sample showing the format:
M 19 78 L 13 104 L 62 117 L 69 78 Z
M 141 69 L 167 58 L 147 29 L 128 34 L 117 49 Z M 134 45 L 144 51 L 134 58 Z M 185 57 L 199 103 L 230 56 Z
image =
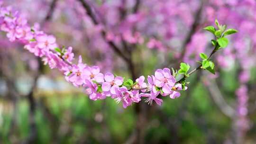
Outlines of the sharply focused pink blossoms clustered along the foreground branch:
M 98 66 L 89 66 L 82 63 L 79 56 L 78 63 L 73 63 L 74 54 L 72 47 L 58 48 L 55 36 L 47 35 L 37 27 L 31 27 L 27 19 L 11 7 L 2 7 L 0 4 L 0 30 L 7 33 L 11 42 L 18 41 L 24 44 L 25 49 L 42 58 L 51 69 L 57 68 L 65 76 L 65 80 L 76 87 L 84 87 L 90 99 L 105 99 L 111 97 L 117 102 L 122 102 L 127 108 L 133 102 L 138 103 L 142 97 L 152 104 L 161 105 L 160 96 L 169 95 L 170 98 L 178 98 L 179 90 L 185 90 L 181 83 L 175 80 L 168 68 L 158 69 L 155 75 L 140 76 L 136 81 L 124 81 L 123 77 L 114 76 L 113 73 L 101 73 Z

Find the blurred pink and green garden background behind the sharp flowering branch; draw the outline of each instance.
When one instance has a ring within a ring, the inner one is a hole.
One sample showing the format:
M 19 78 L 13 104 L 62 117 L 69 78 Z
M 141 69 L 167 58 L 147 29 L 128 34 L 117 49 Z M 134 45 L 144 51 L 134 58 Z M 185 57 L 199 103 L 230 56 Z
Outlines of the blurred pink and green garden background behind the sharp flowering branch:
M 126 109 L 110 98 L 92 101 L 1 32 L 0 144 L 256 143 L 255 0 L 2 1 L 58 44 L 73 46 L 76 60 L 81 54 L 127 79 L 180 62 L 197 67 L 214 38 L 202 28 L 215 18 L 239 32 L 213 56 L 215 75 L 194 73 L 189 89 L 163 98 L 161 107 L 140 101 Z

